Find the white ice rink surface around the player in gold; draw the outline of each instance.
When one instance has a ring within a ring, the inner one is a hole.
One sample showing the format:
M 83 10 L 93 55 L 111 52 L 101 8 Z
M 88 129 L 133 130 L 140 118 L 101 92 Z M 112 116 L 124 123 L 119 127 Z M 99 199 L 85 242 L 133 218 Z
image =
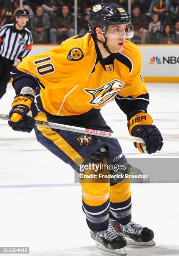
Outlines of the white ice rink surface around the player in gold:
M 161 161 L 178 158 L 179 84 L 147 84 L 147 88 L 148 112 L 164 137 L 164 146 L 149 156 L 139 154 L 133 143 L 120 141 L 124 154 Z M 8 114 L 13 96 L 9 84 L 0 100 L 0 113 Z M 108 103 L 102 114 L 114 132 L 128 134 L 126 116 L 115 102 Z M 90 238 L 81 189 L 73 182 L 71 167 L 43 148 L 34 132 L 15 132 L 0 120 L 0 247 L 28 246 L 30 256 L 109 255 L 96 249 Z M 157 245 L 127 248 L 129 256 L 179 255 L 178 197 L 179 184 L 132 184 L 132 220 L 152 228 Z

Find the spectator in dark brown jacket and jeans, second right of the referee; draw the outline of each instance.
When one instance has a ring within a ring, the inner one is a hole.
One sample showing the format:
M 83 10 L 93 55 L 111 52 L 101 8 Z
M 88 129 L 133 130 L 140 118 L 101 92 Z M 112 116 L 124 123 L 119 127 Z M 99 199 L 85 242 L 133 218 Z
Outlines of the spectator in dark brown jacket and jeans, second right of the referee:
M 62 15 L 56 16 L 53 28 L 50 29 L 50 43 L 57 44 L 57 36 L 60 36 L 60 41 L 63 41 L 74 35 L 74 16 L 69 13 L 67 5 L 64 5 Z

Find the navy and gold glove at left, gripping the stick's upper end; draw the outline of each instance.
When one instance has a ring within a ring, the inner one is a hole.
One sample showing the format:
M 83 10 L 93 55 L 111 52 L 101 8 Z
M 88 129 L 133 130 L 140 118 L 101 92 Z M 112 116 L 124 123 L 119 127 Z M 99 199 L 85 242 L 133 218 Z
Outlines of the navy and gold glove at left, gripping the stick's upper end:
M 15 131 L 30 133 L 35 126 L 34 117 L 38 114 L 35 102 L 25 95 L 16 95 L 12 102 L 8 124 Z

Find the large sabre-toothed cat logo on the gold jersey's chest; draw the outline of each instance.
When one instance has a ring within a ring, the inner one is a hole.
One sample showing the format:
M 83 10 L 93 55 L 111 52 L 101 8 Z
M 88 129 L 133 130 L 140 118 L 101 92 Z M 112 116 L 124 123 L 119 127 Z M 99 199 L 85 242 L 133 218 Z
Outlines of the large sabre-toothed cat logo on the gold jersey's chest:
M 114 79 L 94 90 L 85 88 L 84 90 L 92 96 L 92 100 L 88 102 L 88 104 L 103 105 L 104 103 L 111 101 L 123 86 L 124 82 Z

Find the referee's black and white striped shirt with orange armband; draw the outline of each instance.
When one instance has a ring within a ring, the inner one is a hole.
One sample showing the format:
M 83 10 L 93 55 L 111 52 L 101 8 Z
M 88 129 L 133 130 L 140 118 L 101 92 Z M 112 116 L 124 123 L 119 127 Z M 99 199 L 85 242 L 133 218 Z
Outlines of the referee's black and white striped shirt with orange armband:
M 32 34 L 27 28 L 17 30 L 15 24 L 7 24 L 0 30 L 0 56 L 22 60 L 32 49 Z

